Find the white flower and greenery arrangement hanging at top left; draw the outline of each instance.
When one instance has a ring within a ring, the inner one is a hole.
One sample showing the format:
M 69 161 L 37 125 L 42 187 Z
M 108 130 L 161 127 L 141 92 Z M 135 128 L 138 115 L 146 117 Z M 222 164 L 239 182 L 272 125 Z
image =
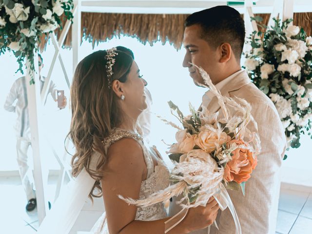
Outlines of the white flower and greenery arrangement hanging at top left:
M 62 15 L 72 20 L 73 6 L 73 0 L 0 0 L 0 54 L 13 51 L 21 73 L 26 57 L 33 71 L 42 34 L 61 29 Z

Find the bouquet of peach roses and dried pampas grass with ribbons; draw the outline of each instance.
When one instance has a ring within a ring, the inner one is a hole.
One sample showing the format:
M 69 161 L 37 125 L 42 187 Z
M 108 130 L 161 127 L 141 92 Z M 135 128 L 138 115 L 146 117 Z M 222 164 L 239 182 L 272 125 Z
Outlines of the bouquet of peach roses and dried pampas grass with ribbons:
M 177 142 L 171 145 L 169 151 L 169 157 L 175 164 L 170 174 L 172 185 L 142 200 L 124 198 L 121 195 L 119 198 L 129 204 L 149 206 L 183 193 L 179 204 L 184 209 L 177 214 L 179 220 L 182 220 L 188 208 L 205 206 L 209 198 L 214 196 L 221 210 L 230 208 L 236 233 L 241 233 L 239 220 L 226 188 L 241 190 L 244 195 L 245 183 L 257 164 L 260 140 L 257 133 L 247 129 L 247 125 L 254 121 L 251 106 L 244 99 L 221 96 L 208 74 L 202 68 L 197 69 L 207 87 L 217 97 L 222 112 L 209 113 L 206 108 L 195 111 L 190 105 L 191 115 L 184 117 L 170 101 L 171 112 L 176 111 L 176 117 L 183 126 L 180 128 L 167 121 L 178 130 Z M 233 111 L 230 112 L 230 109 Z M 167 221 L 166 232 L 176 226 L 177 222 L 172 223 L 172 220 L 176 220 L 176 216 Z

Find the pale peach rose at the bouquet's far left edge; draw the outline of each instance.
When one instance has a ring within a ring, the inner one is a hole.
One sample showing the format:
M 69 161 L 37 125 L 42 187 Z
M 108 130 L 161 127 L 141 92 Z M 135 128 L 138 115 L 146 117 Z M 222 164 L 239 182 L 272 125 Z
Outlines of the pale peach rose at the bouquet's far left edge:
M 188 153 L 193 150 L 195 136 L 186 132 L 186 129 L 176 133 L 176 144 L 170 148 L 170 153 Z

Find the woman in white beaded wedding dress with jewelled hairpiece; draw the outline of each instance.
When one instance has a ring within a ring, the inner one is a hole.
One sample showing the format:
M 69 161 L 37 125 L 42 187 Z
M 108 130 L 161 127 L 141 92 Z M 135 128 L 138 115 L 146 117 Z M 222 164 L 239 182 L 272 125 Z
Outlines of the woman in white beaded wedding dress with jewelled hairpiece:
M 170 218 L 163 203 L 141 208 L 117 196 L 145 198 L 169 185 L 161 156 L 138 134 L 147 83 L 127 49 L 121 49 L 94 52 L 77 66 L 71 86 L 70 136 L 76 148 L 72 174 L 91 177 L 89 197 L 104 199 L 105 213 L 91 233 L 163 234 Z M 218 209 L 214 199 L 206 207 L 191 208 L 168 234 L 203 229 L 214 222 Z

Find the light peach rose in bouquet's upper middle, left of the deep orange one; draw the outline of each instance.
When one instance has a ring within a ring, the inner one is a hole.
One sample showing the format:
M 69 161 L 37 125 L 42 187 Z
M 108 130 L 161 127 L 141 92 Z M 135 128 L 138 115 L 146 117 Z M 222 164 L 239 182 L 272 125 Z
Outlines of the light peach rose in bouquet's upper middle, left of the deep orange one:
M 215 144 L 222 145 L 227 141 L 230 141 L 231 137 L 229 137 L 226 133 L 222 132 L 220 137 L 218 137 L 217 133 L 203 130 L 201 131 L 197 137 L 195 137 L 195 145 L 198 145 L 202 150 L 207 153 L 211 153 L 215 150 Z

